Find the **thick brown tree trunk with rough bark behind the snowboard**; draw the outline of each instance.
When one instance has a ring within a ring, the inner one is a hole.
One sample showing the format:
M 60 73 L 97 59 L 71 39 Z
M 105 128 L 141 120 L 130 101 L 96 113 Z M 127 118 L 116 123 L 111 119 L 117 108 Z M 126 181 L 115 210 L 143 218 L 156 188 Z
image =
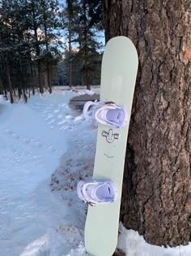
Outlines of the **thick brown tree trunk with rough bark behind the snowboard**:
M 191 2 L 104 0 L 107 40 L 127 36 L 139 68 L 121 220 L 155 245 L 191 241 Z

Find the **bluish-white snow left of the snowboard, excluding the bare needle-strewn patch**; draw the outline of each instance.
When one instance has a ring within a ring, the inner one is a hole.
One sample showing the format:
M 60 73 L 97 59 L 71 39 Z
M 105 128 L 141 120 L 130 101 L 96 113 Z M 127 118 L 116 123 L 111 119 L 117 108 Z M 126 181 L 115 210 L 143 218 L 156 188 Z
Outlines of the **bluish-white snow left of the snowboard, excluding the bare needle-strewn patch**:
M 75 132 L 81 132 L 83 119 L 70 111 L 68 102 L 73 95 L 53 93 L 45 98 L 35 96 L 28 104 L 1 104 L 3 256 L 65 255 L 83 241 L 83 231 L 75 226 L 79 221 L 75 223 L 68 202 L 71 203 L 72 197 L 78 200 L 76 194 L 67 200 L 57 197 L 50 185 L 53 172 L 64 166 L 62 158 L 66 150 L 71 148 L 70 154 L 76 154 L 71 141 Z M 84 218 L 81 223 L 83 228 Z

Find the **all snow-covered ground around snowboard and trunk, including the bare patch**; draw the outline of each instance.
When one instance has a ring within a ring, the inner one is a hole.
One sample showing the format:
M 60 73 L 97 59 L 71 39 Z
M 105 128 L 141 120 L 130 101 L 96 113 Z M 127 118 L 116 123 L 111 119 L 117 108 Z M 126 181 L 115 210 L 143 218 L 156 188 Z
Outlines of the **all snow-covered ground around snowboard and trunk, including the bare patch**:
M 82 92 L 54 91 L 11 105 L 0 98 L 1 256 L 85 256 L 86 206 L 76 184 L 91 176 L 96 124 L 70 109 Z M 121 224 L 128 256 L 190 256 L 191 246 L 148 245 Z

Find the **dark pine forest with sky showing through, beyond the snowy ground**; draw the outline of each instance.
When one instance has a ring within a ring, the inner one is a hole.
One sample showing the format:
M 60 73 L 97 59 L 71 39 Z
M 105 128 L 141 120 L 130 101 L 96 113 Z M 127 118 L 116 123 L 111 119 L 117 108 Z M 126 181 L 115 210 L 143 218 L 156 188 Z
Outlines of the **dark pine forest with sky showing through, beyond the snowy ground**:
M 100 85 L 101 1 L 0 0 L 0 94 Z

